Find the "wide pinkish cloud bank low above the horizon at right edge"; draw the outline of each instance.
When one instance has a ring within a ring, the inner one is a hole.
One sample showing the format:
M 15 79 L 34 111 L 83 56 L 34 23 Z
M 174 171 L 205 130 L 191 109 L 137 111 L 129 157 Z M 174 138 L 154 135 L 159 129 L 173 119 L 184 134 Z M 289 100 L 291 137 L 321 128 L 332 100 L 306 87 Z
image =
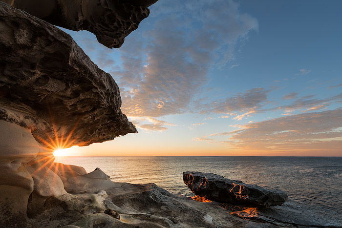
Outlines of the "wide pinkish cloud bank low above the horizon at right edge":
M 254 150 L 342 150 L 342 109 L 311 112 L 245 124 L 229 144 Z

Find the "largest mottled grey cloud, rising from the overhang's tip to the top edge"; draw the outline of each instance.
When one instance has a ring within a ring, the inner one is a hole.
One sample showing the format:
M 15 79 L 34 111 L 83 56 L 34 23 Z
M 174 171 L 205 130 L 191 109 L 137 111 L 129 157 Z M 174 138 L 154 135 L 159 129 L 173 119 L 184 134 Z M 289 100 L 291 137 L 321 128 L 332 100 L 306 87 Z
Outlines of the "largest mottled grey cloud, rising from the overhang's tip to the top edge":
M 155 5 L 151 6 L 155 20 L 151 29 L 128 36 L 119 49 L 122 65 L 111 71 L 114 78 L 119 77 L 122 110 L 129 116 L 188 111 L 192 98 L 207 82 L 209 68 L 233 60 L 239 42 L 258 29 L 257 20 L 240 13 L 233 0 Z

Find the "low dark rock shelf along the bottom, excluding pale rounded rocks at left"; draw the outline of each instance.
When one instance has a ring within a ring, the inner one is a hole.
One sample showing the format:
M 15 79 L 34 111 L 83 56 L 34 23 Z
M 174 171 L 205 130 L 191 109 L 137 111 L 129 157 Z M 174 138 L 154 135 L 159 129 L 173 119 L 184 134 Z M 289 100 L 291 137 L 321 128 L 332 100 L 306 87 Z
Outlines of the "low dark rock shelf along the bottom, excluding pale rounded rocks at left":
M 65 165 L 67 166 L 67 165 Z M 60 166 L 62 167 L 62 166 Z M 90 174 L 90 173 L 89 173 Z M 93 176 L 93 174 L 91 174 Z M 100 175 L 101 176 L 101 175 Z M 94 175 L 98 177 L 98 175 Z M 341 227 L 315 211 L 286 202 L 272 208 L 199 202 L 154 184 L 112 182 L 93 194 L 49 197 L 27 226 L 32 228 L 277 228 Z M 30 210 L 28 210 L 30 211 Z

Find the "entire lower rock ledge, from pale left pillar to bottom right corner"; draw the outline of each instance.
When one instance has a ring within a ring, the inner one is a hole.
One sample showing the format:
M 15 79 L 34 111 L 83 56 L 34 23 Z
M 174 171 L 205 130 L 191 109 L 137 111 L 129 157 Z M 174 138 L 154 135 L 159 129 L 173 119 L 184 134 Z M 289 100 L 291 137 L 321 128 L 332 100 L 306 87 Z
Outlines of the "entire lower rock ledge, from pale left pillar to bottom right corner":
M 342 226 L 291 205 L 232 210 L 230 205 L 194 201 L 154 184 L 112 182 L 99 168 L 86 173 L 80 166 L 54 163 L 53 156 L 42 155 L 30 130 L 3 120 L 0 138 L 1 228 Z

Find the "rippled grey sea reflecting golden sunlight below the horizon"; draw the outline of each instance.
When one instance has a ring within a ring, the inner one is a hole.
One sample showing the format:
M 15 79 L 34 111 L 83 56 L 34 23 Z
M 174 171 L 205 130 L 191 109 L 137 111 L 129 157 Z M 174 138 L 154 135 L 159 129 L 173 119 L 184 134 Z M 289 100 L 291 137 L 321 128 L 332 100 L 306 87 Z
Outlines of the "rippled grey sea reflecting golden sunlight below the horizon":
M 100 167 L 112 181 L 155 183 L 193 196 L 183 171 L 212 172 L 261 187 L 287 192 L 289 201 L 323 216 L 342 216 L 342 157 L 59 157 L 56 162 Z

